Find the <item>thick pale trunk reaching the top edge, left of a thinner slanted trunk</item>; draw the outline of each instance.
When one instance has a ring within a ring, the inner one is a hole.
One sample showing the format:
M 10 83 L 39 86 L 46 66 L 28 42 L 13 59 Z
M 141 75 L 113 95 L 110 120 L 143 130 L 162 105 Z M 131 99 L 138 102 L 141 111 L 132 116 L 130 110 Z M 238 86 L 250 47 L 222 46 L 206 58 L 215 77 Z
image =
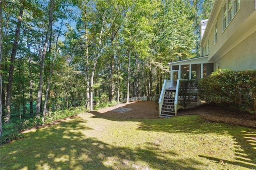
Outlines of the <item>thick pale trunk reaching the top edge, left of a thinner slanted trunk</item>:
M 43 47 L 43 53 L 42 53 L 39 87 L 38 87 L 38 95 L 37 95 L 37 103 L 36 103 L 36 117 L 37 118 L 40 118 L 40 109 L 41 109 L 41 102 L 42 102 L 42 89 L 43 89 L 44 60 L 45 60 L 45 56 L 46 56 L 46 48 L 48 45 L 50 30 L 52 28 L 54 3 L 55 3 L 55 0 L 50 1 L 49 24 L 48 24 L 48 29 L 47 29 L 46 38 L 45 38 L 44 47 Z

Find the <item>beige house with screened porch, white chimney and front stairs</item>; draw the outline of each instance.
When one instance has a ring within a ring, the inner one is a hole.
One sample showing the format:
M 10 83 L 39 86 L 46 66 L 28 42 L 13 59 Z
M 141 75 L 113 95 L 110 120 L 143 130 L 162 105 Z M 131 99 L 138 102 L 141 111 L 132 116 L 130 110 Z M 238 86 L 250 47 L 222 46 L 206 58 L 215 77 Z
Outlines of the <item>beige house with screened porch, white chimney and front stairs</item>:
M 176 115 L 179 79 L 201 79 L 218 69 L 256 69 L 256 0 L 214 0 L 209 19 L 201 21 L 200 47 L 200 57 L 169 63 L 160 115 Z

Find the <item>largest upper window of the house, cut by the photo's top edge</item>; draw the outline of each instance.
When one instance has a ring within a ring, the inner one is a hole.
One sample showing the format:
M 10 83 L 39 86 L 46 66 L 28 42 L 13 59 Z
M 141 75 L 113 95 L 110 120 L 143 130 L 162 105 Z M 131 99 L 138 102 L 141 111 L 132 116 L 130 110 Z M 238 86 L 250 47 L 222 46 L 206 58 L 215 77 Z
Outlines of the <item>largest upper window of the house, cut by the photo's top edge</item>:
M 222 31 L 226 29 L 239 9 L 240 0 L 225 0 L 222 6 Z

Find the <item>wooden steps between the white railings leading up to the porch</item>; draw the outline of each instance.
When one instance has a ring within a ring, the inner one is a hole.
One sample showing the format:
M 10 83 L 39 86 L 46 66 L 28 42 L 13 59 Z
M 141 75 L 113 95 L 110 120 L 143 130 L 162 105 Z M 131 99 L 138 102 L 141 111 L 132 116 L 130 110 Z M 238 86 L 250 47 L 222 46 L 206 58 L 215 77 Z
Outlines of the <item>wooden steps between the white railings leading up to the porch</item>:
M 174 100 L 175 100 L 175 88 L 169 88 L 165 90 L 164 100 L 162 104 L 161 116 L 175 116 Z

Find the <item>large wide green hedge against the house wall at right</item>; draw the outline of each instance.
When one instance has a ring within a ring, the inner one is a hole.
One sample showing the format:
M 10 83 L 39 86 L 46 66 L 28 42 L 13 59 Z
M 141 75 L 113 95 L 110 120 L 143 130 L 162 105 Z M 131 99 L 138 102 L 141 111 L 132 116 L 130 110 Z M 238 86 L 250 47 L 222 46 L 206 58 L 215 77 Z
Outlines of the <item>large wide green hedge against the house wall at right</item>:
M 198 86 L 200 98 L 209 103 L 256 113 L 256 70 L 218 70 Z

